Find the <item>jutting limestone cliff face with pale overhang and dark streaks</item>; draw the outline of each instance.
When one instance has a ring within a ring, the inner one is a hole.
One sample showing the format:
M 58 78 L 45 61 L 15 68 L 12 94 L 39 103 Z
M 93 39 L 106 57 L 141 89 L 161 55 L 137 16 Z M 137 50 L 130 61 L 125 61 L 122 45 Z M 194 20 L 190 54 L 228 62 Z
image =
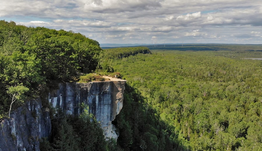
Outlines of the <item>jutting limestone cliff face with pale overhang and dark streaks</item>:
M 125 80 L 62 83 L 59 89 L 49 94 L 49 102 L 55 108 L 60 108 L 66 114 L 79 116 L 82 113 L 81 104 L 88 105 L 89 113 L 100 121 L 107 138 L 117 139 L 114 121 L 123 107 Z

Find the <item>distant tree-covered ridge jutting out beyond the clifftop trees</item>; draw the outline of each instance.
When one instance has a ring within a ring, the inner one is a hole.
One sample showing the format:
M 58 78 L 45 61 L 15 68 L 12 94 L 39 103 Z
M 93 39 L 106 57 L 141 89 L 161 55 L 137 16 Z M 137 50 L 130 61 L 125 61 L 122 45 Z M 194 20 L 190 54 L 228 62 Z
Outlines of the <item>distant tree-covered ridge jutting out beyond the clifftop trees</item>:
M 111 48 L 105 49 L 105 57 L 108 59 L 123 58 L 130 55 L 136 55 L 138 53 L 151 53 L 147 47 L 123 47 L 123 48 Z

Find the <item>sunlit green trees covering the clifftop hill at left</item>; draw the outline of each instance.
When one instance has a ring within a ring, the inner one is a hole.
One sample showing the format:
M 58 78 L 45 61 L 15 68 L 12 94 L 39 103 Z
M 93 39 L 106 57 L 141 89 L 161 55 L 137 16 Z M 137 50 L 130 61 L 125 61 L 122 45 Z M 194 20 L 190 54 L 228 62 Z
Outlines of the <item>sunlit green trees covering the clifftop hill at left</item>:
M 80 33 L 0 21 L 0 117 L 45 87 L 95 71 L 102 53 L 97 41 Z

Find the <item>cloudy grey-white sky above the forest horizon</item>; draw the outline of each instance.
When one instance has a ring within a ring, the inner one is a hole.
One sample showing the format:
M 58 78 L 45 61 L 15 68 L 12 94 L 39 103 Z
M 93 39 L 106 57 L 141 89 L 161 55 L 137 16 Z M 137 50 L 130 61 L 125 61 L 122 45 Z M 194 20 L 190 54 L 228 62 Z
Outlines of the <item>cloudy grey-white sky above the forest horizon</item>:
M 262 44 L 261 0 L 1 0 L 0 20 L 100 44 Z

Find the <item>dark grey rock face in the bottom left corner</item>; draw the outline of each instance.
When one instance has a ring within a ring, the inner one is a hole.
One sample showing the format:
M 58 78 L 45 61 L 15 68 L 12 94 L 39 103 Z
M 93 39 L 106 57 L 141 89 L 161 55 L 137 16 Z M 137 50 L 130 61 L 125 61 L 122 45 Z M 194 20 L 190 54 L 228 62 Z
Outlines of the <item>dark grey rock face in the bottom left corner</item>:
M 41 100 L 32 100 L 10 114 L 0 124 L 0 151 L 36 150 L 39 139 L 51 134 L 49 111 L 42 108 Z

